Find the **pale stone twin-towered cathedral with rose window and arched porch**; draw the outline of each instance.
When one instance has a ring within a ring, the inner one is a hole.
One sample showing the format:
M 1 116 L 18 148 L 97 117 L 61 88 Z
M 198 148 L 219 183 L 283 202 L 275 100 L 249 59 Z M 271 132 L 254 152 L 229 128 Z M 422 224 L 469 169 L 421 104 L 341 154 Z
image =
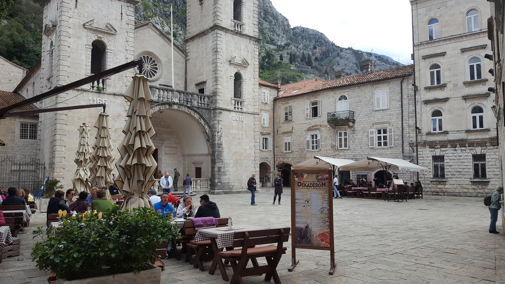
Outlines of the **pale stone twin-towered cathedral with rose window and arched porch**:
M 273 136 L 272 100 L 278 87 L 259 82 L 258 1 L 187 1 L 186 49 L 174 45 L 174 70 L 170 38 L 149 22 L 134 24 L 138 3 L 42 1 L 42 58 L 24 78 L 13 78 L 20 81 L 14 92 L 30 98 L 141 58 L 153 94 L 157 134 L 152 139 L 160 172 L 173 174 L 177 168 L 194 178 L 194 190 L 214 193 L 245 191 L 252 172 L 271 176 L 272 147 L 260 146 L 262 135 Z M 134 72 L 58 94 L 36 107 L 106 103 L 112 144 L 119 145 L 128 108 L 123 94 Z M 262 92 L 268 92 L 267 102 Z M 83 122 L 93 125 L 101 111 L 40 114 L 36 156 L 47 175 L 71 186 L 77 129 Z M 263 113 L 269 115 L 268 126 L 262 126 Z M 93 137 L 94 129 L 91 144 Z M 116 149 L 113 154 L 117 160 Z

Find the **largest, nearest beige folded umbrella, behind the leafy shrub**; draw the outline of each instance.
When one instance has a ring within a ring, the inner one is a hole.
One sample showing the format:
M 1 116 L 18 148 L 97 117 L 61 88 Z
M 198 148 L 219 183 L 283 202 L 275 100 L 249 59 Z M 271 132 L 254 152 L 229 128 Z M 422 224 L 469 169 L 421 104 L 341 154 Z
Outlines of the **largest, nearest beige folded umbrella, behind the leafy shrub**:
M 151 137 L 155 130 L 150 120 L 149 102 L 153 98 L 145 76 L 133 76 L 125 99 L 130 107 L 123 128 L 125 137 L 118 147 L 121 157 L 116 162 L 119 172 L 116 184 L 125 196 L 123 210 L 151 206 L 147 193 L 155 183 L 153 174 L 158 166 L 152 155 L 155 147 Z

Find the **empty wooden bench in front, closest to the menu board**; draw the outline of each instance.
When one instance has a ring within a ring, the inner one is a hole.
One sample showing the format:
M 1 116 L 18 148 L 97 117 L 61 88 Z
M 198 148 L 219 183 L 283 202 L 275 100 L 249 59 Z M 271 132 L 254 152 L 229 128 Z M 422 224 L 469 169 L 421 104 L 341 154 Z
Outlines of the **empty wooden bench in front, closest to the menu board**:
M 241 284 L 244 276 L 266 273 L 265 281 L 270 281 L 273 277 L 276 284 L 281 284 L 277 274 L 277 265 L 282 254 L 286 253 L 287 249 L 283 247 L 283 243 L 289 240 L 289 232 L 289 227 L 235 232 L 233 247 L 241 247 L 241 249 L 219 252 L 221 259 L 231 262 L 233 276 L 230 283 Z M 257 262 L 259 257 L 265 257 L 268 264 L 260 266 Z M 253 267 L 246 268 L 249 260 Z

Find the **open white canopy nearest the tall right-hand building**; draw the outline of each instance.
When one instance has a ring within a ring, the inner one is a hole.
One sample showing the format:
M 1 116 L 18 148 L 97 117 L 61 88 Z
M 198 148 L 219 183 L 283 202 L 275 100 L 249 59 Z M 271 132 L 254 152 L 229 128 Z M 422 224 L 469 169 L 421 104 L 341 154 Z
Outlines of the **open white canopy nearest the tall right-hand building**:
M 402 159 L 391 159 L 391 158 L 377 158 L 377 157 L 367 157 L 366 159 L 342 165 L 340 170 L 343 171 L 373 171 L 376 169 L 383 170 L 400 170 L 400 171 L 412 171 L 412 172 L 422 172 L 427 171 L 425 167 L 407 162 Z

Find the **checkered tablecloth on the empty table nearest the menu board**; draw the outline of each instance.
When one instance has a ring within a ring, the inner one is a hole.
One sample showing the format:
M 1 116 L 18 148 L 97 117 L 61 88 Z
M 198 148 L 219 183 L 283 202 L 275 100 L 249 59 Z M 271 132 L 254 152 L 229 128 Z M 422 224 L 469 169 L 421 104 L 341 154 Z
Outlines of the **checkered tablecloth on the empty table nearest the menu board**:
M 233 246 L 233 234 L 235 232 L 266 229 L 265 227 L 254 225 L 237 225 L 234 226 L 234 228 L 236 229 L 231 231 L 228 230 L 228 227 L 198 229 L 196 235 L 194 236 L 194 241 L 201 242 L 213 238 L 216 239 L 218 248 L 222 249 Z

